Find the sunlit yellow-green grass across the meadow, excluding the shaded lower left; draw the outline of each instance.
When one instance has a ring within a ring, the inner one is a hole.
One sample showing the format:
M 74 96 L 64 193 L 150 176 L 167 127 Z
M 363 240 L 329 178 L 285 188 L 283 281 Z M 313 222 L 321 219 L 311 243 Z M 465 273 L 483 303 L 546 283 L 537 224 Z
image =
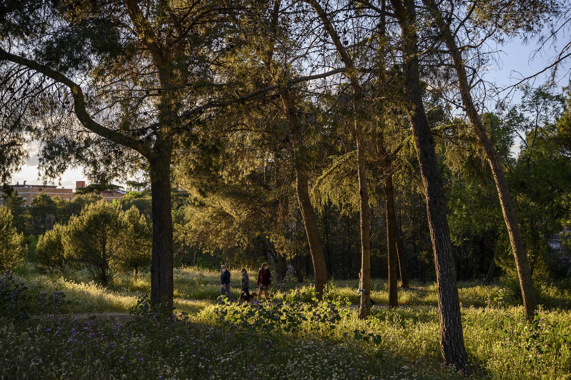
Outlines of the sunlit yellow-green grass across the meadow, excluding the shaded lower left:
M 127 313 L 140 297 L 148 295 L 150 291 L 148 273 L 141 273 L 139 278 L 130 274 L 116 274 L 114 282 L 107 287 L 96 285 L 83 272 L 65 273 L 62 277 L 62 274 L 42 274 L 33 268 L 26 268 L 20 273 L 25 276 L 27 286 L 35 294 L 51 293 L 55 290 L 64 292 L 66 300 L 70 301 L 70 305 L 65 306 L 65 312 Z M 207 335 L 221 334 L 220 337 L 224 337 L 228 345 L 244 347 L 251 351 L 252 357 L 259 357 L 262 351 L 250 347 L 247 339 L 234 336 L 236 330 L 231 330 L 230 323 L 221 320 L 216 314 L 216 298 L 220 289 L 218 271 L 178 268 L 174 276 L 175 314 L 178 318 L 188 319 L 196 326 L 200 339 Z M 235 297 L 238 296 L 239 280 L 239 273 L 233 271 L 232 291 Z M 251 285 L 253 282 L 251 281 Z M 300 374 L 301 377 L 301 374 L 306 374 L 307 378 L 316 378 L 308 375 L 312 371 L 314 361 L 334 365 L 331 360 L 335 360 L 338 355 L 342 357 L 360 353 L 364 355 L 363 360 L 370 361 L 368 373 L 377 378 L 459 379 L 457 375 L 442 371 L 440 367 L 442 355 L 439 346 L 439 316 L 435 307 L 436 285 L 413 282 L 411 286 L 412 289 L 399 290 L 399 309 L 373 309 L 367 321 L 359 320 L 357 309 L 353 308 L 344 309 L 342 319 L 332 329 L 320 326 L 319 322 L 311 322 L 309 316 L 315 313 L 311 309 L 306 312 L 308 321 L 301 322 L 303 333 L 280 330 L 281 322 L 276 322 L 276 329 L 261 337 L 262 340 L 265 338 L 274 342 L 273 359 L 264 365 L 279 371 Z M 540 319 L 530 324 L 523 317 L 523 309 L 517 304 L 516 297 L 504 296 L 493 301 L 493 297 L 505 293 L 501 290 L 504 286 L 506 285 L 499 283 L 484 286 L 476 281 L 459 283 L 459 296 L 463 305 L 464 341 L 475 370 L 471 377 L 570 380 L 571 313 L 568 309 L 557 309 L 557 304 L 568 305 L 568 290 L 558 288 L 554 284 L 541 283 L 538 298 L 544 300 L 552 297 L 552 305 L 555 306 L 550 310 L 542 309 Z M 371 293 L 377 304 L 387 304 L 387 281 L 374 279 Z M 303 305 L 313 304 L 313 287 L 306 284 L 295 290 L 272 293 L 274 300 L 284 300 L 286 305 L 295 302 L 298 297 L 306 302 Z M 356 304 L 359 301 L 356 281 L 332 281 L 325 298 Z M 257 306 L 232 304 L 226 307 L 240 312 Z M 248 328 L 241 330 L 240 334 L 262 334 L 259 329 L 259 326 Z M 375 334 L 380 337 L 380 341 L 374 345 L 356 342 L 353 338 L 356 330 Z M 4 334 L 2 339 L 11 339 L 14 344 L 23 345 L 26 341 L 18 340 L 17 335 L 14 335 L 16 331 L 14 325 L 5 325 L 0 331 L 0 338 Z M 33 329 L 27 332 L 26 336 L 32 337 L 35 334 L 37 339 L 43 339 L 39 337 L 41 333 L 40 330 Z M 171 342 L 175 342 L 174 338 L 179 339 L 178 341 L 186 339 L 178 336 L 173 337 Z M 55 354 L 57 347 L 55 343 L 50 344 L 54 344 L 51 350 Z M 138 343 L 135 343 L 135 346 L 136 344 Z M 135 349 L 135 346 L 132 349 Z M 215 345 L 211 351 L 204 351 L 204 360 L 216 363 L 218 353 L 214 347 Z M 279 347 L 277 351 L 276 347 Z M 304 347 L 304 350 L 309 352 L 288 347 Z M 144 347 L 138 347 L 136 350 L 143 352 Z M 168 350 L 165 352 L 163 355 L 168 354 Z M 223 358 L 223 355 L 220 358 Z M 25 357 L 22 357 L 22 360 L 25 360 Z M 234 361 L 240 360 L 246 368 L 248 359 L 241 356 L 234 358 Z M 292 360 L 297 362 L 293 364 Z M 184 363 L 180 365 L 184 366 Z M 103 368 L 102 364 L 102 371 Z M 87 367 L 83 370 L 89 371 Z M 244 373 L 247 374 L 247 371 Z M 246 378 L 245 376 L 242 378 Z

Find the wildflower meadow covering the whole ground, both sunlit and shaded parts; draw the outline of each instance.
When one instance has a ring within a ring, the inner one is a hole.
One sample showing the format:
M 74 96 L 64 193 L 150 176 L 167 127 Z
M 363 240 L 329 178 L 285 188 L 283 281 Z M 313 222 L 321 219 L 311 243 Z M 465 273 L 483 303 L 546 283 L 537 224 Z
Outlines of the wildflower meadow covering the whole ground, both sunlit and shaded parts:
M 333 282 L 321 302 L 309 286 L 282 287 L 244 306 L 213 301 L 217 273 L 177 269 L 175 309 L 164 315 L 144 298 L 147 276 L 103 288 L 77 273 L 20 274 L 0 281 L 0 378 L 462 378 L 441 367 L 433 285 L 400 292 L 401 308 L 373 309 L 365 322 L 349 307 L 351 282 Z M 554 306 L 528 322 L 500 284 L 461 286 L 468 377 L 571 379 L 571 314 L 557 308 L 568 293 L 552 290 Z M 385 287 L 373 281 L 377 302 Z M 96 314 L 128 310 L 119 320 Z

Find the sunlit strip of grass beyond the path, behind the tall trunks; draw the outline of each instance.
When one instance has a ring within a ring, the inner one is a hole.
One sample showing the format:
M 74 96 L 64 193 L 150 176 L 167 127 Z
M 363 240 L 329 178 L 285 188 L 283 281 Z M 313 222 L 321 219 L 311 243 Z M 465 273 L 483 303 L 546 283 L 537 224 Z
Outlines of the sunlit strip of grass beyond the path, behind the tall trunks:
M 70 310 L 73 312 L 128 312 L 136 300 L 149 294 L 151 290 L 150 273 L 142 272 L 138 278 L 132 274 L 115 274 L 113 281 L 107 287 L 96 285 L 90 280 L 89 274 L 81 271 L 68 271 L 58 274 L 42 274 L 33 266 L 27 264 L 19 269 L 30 285 L 44 291 L 61 290 L 72 301 Z M 256 270 L 249 269 L 250 291 L 254 292 Z M 65 280 L 64 280 L 65 278 Z M 231 290 L 235 300 L 240 294 L 239 270 L 231 270 Z M 509 284 L 508 284 L 509 285 Z M 513 285 L 513 284 L 512 284 Z M 297 285 L 303 300 L 312 302 L 315 297 L 312 284 Z M 503 292 L 501 303 L 506 306 L 521 304 L 517 289 L 506 290 L 506 285 L 481 285 L 477 281 L 459 282 L 460 303 L 464 308 L 471 306 L 484 308 L 490 299 Z M 504 288 L 503 290 L 500 290 Z M 571 293 L 554 284 L 537 282 L 538 301 L 549 308 L 569 308 L 571 306 Z M 332 280 L 329 283 L 326 298 L 341 298 L 352 304 L 359 304 L 359 294 L 356 280 Z M 284 293 L 270 288 L 270 297 L 288 299 L 293 296 L 288 291 Z M 220 293 L 220 272 L 203 268 L 183 267 L 174 270 L 174 297 L 182 305 L 184 300 L 214 302 Z M 84 301 L 84 298 L 88 298 Z M 377 305 L 388 305 L 388 285 L 386 280 L 372 279 L 371 298 Z M 175 303 L 176 304 L 176 303 Z M 437 306 L 436 284 L 422 284 L 411 282 L 410 289 L 399 288 L 400 306 Z M 194 306 L 193 306 L 194 307 Z

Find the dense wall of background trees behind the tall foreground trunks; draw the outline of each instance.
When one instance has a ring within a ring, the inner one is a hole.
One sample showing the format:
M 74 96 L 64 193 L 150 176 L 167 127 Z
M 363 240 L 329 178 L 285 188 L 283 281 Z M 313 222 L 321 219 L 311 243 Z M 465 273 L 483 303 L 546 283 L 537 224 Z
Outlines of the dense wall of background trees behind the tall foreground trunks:
M 553 94 L 545 87 L 525 87 L 522 92 L 519 104 L 498 104 L 496 112 L 483 115 L 483 119 L 505 163 L 532 273 L 539 277 L 565 276 L 569 268 L 561 257 L 568 250 L 565 245 L 562 251 L 550 250 L 548 241 L 571 224 L 568 200 L 571 145 L 567 132 L 570 116 L 569 106 L 565 106 L 569 104 L 569 96 Z M 435 106 L 431 118 L 436 126 L 458 279 L 489 282 L 492 276 L 501 273 L 516 276 L 509 238 L 501 223 L 500 204 L 494 196 L 492 173 L 485 167 L 468 126 L 461 119 L 447 118 L 442 107 Z M 405 126 L 401 128 L 405 130 Z M 405 281 L 407 277 L 433 281 L 435 270 L 419 167 L 412 140 L 409 137 L 407 140 L 404 134 L 401 138 L 403 143 L 393 158 L 392 174 L 396 229 L 402 252 L 399 266 L 403 266 L 399 268 L 399 277 L 403 272 Z M 512 149 L 517 144 L 520 147 L 516 155 Z M 337 155 L 332 155 L 331 143 L 324 147 L 309 177 L 315 183 L 311 196 L 325 265 L 331 277 L 355 278 L 361 268 L 355 157 L 350 147 L 347 153 L 337 152 Z M 289 168 L 279 164 L 271 162 L 252 168 L 246 178 L 237 176 L 233 181 L 226 178 L 223 186 L 197 188 L 186 180 L 184 183 L 191 192 L 188 199 L 173 191 L 175 265 L 217 266 L 225 262 L 236 267 L 255 267 L 260 261 L 270 261 L 280 276 L 289 265 L 300 280 L 312 278 L 313 265 L 301 213 L 296 207 L 283 207 L 296 202 L 292 184 L 280 189 L 282 199 L 271 198 L 269 189 L 278 188 L 280 176 L 289 175 Z M 387 278 L 384 176 L 382 168 L 375 168 L 374 160 L 368 164 L 374 168 L 369 201 L 372 276 Z M 200 175 L 213 178 L 212 173 Z M 177 178 L 174 177 L 173 183 Z M 196 180 L 202 185 L 200 178 Z M 286 221 L 285 225 L 271 220 L 271 209 L 268 214 L 266 208 L 268 200 L 260 198 L 260 189 L 268 189 L 264 196 L 270 197 L 270 201 L 282 202 L 280 212 L 284 214 L 280 217 Z M 94 193 L 77 195 L 71 201 L 40 193 L 30 207 L 24 207 L 22 197 L 6 194 L 2 203 L 10 209 L 12 225 L 15 231 L 23 233 L 33 257 L 39 236 L 55 225 L 66 225 L 73 215 L 79 215 L 84 207 L 100 199 Z M 131 192 L 114 203 L 115 208 L 123 211 L 132 206 L 150 221 L 148 192 Z M 147 233 L 150 239 L 150 230 Z M 566 240 L 562 241 L 566 244 Z

